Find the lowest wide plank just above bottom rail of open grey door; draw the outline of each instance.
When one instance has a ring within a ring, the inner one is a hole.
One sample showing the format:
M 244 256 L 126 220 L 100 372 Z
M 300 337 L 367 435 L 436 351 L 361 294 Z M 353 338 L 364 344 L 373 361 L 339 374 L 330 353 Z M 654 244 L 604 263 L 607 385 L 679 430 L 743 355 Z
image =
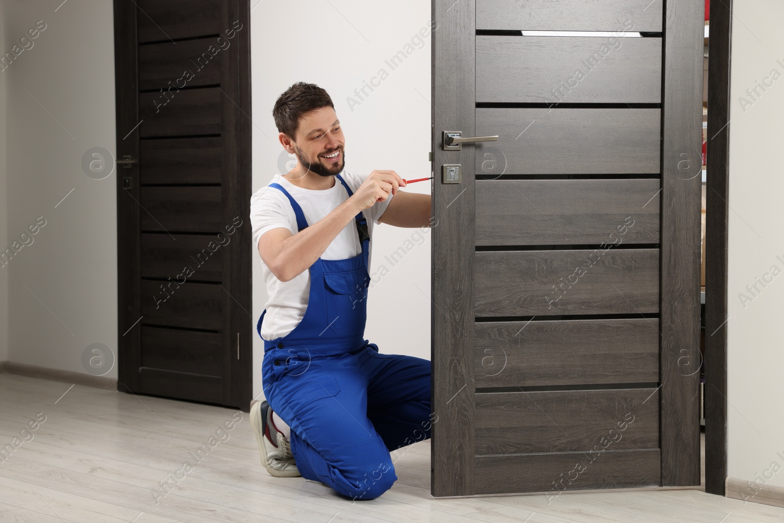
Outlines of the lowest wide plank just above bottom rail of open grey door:
M 659 448 L 655 388 L 476 394 L 477 456 Z M 521 474 L 527 471 L 521 470 Z

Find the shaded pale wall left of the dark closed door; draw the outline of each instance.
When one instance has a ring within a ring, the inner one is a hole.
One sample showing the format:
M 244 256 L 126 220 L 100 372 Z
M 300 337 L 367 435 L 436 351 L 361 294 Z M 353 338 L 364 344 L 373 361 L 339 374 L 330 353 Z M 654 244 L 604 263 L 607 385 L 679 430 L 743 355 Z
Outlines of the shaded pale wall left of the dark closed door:
M 3 54 L 38 20 L 46 28 L 0 73 L 9 195 L 0 249 L 38 216 L 46 224 L 0 271 L 9 278 L 9 360 L 85 372 L 89 344 L 117 350 L 114 174 L 93 180 L 82 171 L 89 148 L 114 154 L 113 10 L 106 0 L 58 5 L 3 3 Z M 106 376 L 116 378 L 116 366 Z

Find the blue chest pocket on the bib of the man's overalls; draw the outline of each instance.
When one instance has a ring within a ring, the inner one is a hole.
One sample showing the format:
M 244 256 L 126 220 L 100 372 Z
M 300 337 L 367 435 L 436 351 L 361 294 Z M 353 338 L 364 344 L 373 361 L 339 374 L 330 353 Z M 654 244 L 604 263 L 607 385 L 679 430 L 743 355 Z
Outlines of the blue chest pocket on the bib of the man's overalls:
M 365 267 L 324 273 L 328 329 L 336 334 L 365 332 L 370 276 Z M 326 327 L 326 325 L 325 325 Z

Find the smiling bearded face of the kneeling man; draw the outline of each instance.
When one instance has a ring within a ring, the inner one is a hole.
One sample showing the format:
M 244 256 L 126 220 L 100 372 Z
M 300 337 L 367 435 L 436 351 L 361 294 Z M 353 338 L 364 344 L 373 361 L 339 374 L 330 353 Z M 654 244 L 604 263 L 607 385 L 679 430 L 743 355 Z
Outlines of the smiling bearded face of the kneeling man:
M 334 176 L 346 165 L 343 129 L 332 107 L 321 107 L 303 114 L 299 118 L 295 140 L 285 140 L 284 136 L 281 136 L 281 143 L 286 147 L 286 142 L 289 142 L 293 149 L 289 152 L 296 154 L 297 169 L 301 170 L 302 176 L 308 171 L 318 176 Z

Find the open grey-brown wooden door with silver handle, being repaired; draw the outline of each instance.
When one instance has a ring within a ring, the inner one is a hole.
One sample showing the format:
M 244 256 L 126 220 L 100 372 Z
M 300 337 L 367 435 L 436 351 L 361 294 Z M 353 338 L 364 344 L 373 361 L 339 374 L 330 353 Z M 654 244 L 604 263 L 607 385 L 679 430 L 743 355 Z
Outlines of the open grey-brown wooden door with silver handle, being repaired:
M 434 496 L 699 485 L 702 4 L 434 0 Z

